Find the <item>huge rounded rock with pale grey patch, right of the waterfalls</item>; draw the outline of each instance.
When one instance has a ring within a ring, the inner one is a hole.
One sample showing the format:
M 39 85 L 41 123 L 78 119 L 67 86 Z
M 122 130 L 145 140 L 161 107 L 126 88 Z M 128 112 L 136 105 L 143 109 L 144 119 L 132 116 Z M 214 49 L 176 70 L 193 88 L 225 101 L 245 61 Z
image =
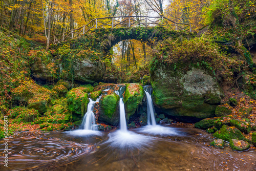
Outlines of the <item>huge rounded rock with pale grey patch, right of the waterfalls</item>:
M 163 112 L 182 121 L 214 117 L 224 97 L 218 82 L 203 68 L 162 66 L 151 73 L 153 101 Z

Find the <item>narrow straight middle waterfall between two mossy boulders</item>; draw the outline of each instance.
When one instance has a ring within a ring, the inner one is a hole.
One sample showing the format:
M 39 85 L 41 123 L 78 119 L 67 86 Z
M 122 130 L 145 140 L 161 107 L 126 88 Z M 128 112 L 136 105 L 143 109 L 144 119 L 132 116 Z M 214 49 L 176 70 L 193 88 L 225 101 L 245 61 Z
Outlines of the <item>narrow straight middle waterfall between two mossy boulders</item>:
M 120 130 L 123 132 L 127 131 L 126 119 L 125 119 L 125 109 L 122 97 L 122 88 L 120 88 L 120 92 L 116 91 L 116 94 L 120 97 L 119 107 L 120 107 Z

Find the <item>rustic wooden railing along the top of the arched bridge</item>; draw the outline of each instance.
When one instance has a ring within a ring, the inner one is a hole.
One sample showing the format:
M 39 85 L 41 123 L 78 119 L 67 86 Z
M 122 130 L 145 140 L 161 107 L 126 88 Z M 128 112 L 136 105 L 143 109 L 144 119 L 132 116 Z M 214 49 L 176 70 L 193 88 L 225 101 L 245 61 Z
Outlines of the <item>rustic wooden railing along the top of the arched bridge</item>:
M 191 32 L 191 23 L 176 23 L 164 16 L 115 16 L 92 19 L 87 25 L 52 36 L 51 43 L 57 44 L 73 38 L 78 38 L 95 29 L 101 28 L 130 28 L 130 27 L 155 27 L 170 26 L 175 30 Z

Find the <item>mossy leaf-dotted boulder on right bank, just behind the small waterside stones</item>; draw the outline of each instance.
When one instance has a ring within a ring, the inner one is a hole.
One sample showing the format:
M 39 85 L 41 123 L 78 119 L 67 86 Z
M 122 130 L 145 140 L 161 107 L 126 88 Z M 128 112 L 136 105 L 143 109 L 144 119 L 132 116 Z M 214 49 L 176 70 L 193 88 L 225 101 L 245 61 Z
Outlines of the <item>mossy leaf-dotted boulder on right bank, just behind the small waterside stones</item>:
M 222 125 L 221 129 L 212 136 L 228 142 L 231 139 L 245 140 L 245 137 L 240 130 L 238 130 L 236 127 L 229 127 L 227 125 Z

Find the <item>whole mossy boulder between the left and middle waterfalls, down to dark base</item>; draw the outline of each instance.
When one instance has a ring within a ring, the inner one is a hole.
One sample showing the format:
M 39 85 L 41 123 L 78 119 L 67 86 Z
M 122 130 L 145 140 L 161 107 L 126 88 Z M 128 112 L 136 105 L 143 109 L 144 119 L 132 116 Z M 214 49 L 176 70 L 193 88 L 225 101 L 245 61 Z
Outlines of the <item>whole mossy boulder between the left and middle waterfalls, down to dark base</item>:
M 100 101 L 99 120 L 112 125 L 119 123 L 119 96 L 115 93 L 103 96 Z

